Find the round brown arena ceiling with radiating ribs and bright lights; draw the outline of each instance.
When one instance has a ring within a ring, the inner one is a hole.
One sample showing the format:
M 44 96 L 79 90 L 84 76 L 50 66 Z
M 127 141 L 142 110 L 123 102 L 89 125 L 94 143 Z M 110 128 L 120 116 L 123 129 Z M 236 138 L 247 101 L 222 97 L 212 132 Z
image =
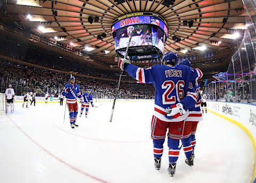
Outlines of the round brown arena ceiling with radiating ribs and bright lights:
M 241 0 L 7 0 L 6 7 L 13 20 L 39 34 L 107 56 L 115 55 L 111 22 L 133 12 L 163 16 L 169 29 L 164 52 L 180 56 L 234 47 L 246 29 Z

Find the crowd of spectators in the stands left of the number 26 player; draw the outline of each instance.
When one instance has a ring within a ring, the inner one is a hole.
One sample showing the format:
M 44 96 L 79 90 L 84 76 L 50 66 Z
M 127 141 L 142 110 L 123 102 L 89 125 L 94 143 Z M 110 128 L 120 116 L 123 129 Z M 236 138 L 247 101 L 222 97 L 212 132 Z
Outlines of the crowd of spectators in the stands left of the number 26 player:
M 65 84 L 69 82 L 69 74 L 46 69 L 28 68 L 10 62 L 0 62 L 1 92 L 13 85 L 17 95 L 35 91 L 37 96 L 44 96 L 46 91 L 57 97 Z M 106 81 L 84 77 L 76 77 L 76 83 L 81 91 L 92 89 L 94 97 L 114 98 L 117 81 Z M 154 87 L 150 84 L 121 84 L 119 98 L 154 98 Z

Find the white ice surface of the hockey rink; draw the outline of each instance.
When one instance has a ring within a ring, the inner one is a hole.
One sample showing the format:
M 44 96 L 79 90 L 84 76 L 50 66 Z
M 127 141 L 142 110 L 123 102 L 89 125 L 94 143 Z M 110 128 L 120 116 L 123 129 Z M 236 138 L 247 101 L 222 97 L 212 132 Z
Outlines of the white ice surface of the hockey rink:
M 180 151 L 173 180 L 167 175 L 167 139 L 162 168 L 154 168 L 150 123 L 153 102 L 95 103 L 88 118 L 63 123 L 65 105 L 22 108 L 0 115 L 0 182 L 239 182 L 251 181 L 253 147 L 245 132 L 212 113 L 199 122 L 193 170 Z

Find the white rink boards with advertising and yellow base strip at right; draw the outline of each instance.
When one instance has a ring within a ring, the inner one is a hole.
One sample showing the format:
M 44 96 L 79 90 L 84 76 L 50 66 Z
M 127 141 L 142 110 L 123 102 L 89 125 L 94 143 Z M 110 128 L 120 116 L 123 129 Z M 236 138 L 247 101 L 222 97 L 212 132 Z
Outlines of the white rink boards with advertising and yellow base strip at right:
M 256 105 L 247 103 L 229 103 L 207 101 L 210 112 L 236 124 L 250 138 L 254 149 L 253 183 L 256 182 Z

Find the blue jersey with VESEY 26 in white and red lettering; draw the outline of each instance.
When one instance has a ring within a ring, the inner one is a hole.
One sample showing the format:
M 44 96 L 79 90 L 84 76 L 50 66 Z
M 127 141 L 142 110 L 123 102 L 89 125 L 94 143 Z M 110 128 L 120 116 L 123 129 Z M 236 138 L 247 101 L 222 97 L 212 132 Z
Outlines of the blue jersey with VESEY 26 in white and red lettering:
M 167 119 L 167 107 L 181 103 L 189 109 L 196 104 L 195 90 L 192 87 L 193 71 L 186 65 L 153 65 L 145 69 L 127 64 L 125 71 L 138 81 L 153 83 L 156 90 L 154 115 L 162 121 L 182 121 L 188 117 L 187 110 L 181 117 Z

